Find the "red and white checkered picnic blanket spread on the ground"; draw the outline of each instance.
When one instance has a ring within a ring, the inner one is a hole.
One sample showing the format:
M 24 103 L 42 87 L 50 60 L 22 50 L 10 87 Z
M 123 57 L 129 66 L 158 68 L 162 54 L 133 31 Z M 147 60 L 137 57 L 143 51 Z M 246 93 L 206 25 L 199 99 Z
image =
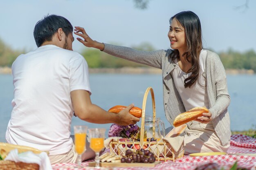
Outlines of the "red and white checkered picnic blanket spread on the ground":
M 108 150 L 109 151 L 109 150 Z M 245 135 L 232 135 L 227 154 L 256 154 L 256 139 Z M 92 161 L 92 160 L 91 160 Z M 154 168 L 146 167 L 119 167 L 113 170 L 220 170 L 230 169 L 237 161 L 238 168 L 256 170 L 256 156 L 247 155 L 214 155 L 202 157 L 190 157 L 188 155 L 177 159 L 175 162 L 166 161 Z M 86 161 L 82 163 L 83 170 L 88 168 Z M 52 166 L 53 170 L 74 170 L 75 163 L 58 163 Z

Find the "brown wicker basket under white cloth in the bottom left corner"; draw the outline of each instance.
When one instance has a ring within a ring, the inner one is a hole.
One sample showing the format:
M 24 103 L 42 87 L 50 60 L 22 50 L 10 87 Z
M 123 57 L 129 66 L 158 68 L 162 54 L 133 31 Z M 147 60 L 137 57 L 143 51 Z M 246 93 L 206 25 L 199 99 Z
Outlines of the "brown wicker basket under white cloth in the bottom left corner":
M 39 170 L 36 163 L 0 161 L 0 170 Z

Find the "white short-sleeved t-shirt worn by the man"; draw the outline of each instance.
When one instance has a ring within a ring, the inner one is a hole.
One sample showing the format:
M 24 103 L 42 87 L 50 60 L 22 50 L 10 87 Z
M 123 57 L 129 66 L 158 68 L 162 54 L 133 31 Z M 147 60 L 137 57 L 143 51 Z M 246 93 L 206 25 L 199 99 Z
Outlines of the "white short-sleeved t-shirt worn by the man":
M 10 144 L 68 152 L 73 108 L 70 92 L 90 90 L 88 64 L 79 53 L 55 45 L 20 55 L 12 65 L 14 98 L 6 140 Z

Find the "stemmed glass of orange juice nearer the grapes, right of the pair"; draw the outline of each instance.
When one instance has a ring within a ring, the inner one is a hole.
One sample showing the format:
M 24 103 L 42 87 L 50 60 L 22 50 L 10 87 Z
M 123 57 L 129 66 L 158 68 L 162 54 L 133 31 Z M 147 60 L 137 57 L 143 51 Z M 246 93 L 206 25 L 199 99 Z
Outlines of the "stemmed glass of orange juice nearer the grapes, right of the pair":
M 99 169 L 99 152 L 104 148 L 105 128 L 89 129 L 90 148 L 95 152 L 95 168 Z

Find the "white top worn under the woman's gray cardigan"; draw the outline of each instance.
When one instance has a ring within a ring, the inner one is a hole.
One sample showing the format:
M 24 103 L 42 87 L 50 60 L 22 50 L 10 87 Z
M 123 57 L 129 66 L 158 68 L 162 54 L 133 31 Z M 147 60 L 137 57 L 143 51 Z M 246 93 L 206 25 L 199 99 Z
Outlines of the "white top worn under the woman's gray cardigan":
M 173 76 L 175 87 L 180 94 L 182 102 L 186 111 L 190 110 L 194 107 L 207 107 L 209 108 L 209 100 L 207 94 L 207 88 L 205 86 L 205 78 L 202 76 L 202 73 L 205 70 L 205 60 L 206 60 L 207 51 L 202 50 L 199 56 L 199 63 L 200 63 L 200 76 L 198 77 L 198 81 L 196 84 L 193 84 L 191 88 L 187 87 L 184 88 L 184 79 L 189 77 L 191 73 L 186 74 L 184 73 L 180 66 L 177 63 L 177 59 L 175 59 L 175 63 L 177 67 L 171 71 L 171 75 Z M 201 86 L 202 85 L 202 86 Z

